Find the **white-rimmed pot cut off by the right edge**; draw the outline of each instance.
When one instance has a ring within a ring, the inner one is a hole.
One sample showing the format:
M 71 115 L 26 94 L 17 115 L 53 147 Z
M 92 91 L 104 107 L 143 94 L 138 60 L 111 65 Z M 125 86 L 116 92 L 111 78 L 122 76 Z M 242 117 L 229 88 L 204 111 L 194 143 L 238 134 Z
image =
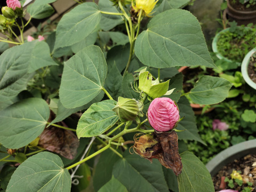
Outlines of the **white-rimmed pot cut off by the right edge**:
M 253 89 L 256 89 L 255 52 L 256 49 L 252 49 L 249 53 L 247 53 L 241 66 L 244 81 Z

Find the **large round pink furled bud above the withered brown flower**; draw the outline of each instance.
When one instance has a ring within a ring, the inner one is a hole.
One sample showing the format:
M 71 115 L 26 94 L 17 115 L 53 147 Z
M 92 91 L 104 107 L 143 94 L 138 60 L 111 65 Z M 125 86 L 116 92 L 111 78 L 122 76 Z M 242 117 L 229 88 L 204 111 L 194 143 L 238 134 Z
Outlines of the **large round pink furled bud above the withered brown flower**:
M 179 121 L 179 109 L 170 98 L 156 98 L 148 108 L 148 121 L 156 131 L 170 131 Z

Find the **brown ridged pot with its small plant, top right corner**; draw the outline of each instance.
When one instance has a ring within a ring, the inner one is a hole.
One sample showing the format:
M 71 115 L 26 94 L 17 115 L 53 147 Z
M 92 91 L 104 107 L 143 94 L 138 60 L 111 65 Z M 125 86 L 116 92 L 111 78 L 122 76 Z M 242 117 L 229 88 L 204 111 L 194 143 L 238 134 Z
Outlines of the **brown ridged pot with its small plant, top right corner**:
M 256 1 L 255 0 L 227 0 L 229 21 L 236 21 L 238 25 L 256 24 Z

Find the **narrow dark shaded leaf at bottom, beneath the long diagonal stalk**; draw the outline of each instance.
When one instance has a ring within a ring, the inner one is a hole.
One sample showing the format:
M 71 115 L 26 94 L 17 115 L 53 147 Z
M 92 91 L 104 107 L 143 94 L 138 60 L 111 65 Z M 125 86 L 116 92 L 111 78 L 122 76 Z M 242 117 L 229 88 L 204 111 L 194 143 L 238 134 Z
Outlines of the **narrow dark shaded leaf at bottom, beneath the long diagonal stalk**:
M 108 160 L 106 161 L 106 159 Z M 111 179 L 113 166 L 118 159 L 120 159 L 120 157 L 110 149 L 100 154 L 99 162 L 97 163 L 93 174 L 93 187 L 95 191 L 98 191 Z

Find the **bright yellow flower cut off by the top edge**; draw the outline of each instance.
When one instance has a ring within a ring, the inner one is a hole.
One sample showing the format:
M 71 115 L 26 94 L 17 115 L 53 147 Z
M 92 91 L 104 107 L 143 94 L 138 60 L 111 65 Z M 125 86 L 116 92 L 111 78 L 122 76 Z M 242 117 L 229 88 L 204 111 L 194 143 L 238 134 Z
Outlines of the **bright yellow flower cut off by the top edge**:
M 135 12 L 139 14 L 140 10 L 143 10 L 144 13 L 150 17 L 151 11 L 154 9 L 156 3 L 158 2 L 155 0 L 136 0 L 135 6 L 132 4 L 133 9 Z

